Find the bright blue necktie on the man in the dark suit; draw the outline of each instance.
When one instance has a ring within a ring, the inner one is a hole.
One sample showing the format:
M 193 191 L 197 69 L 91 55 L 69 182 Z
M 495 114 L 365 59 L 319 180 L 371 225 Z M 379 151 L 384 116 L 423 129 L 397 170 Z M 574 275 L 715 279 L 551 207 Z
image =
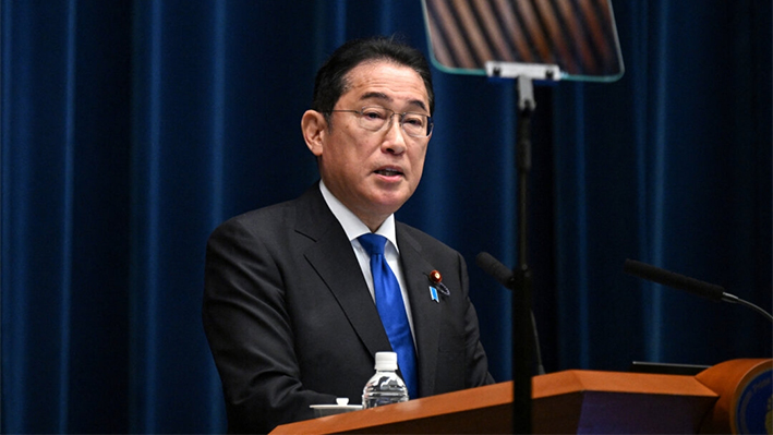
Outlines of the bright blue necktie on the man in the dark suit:
M 413 349 L 413 337 L 408 324 L 406 305 L 402 303 L 400 285 L 384 256 L 384 246 L 387 240 L 384 235 L 373 233 L 362 234 L 358 240 L 371 255 L 376 309 L 382 317 L 387 337 L 389 337 L 391 349 L 397 352 L 397 363 L 402 373 L 402 380 L 408 387 L 408 396 L 415 399 L 419 397 L 419 391 L 416 390 L 416 357 Z

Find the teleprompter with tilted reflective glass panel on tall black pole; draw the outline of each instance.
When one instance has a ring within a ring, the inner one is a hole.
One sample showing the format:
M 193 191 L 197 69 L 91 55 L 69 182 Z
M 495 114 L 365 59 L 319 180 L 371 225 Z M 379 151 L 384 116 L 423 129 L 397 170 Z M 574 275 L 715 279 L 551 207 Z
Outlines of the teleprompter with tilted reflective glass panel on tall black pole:
M 432 61 L 437 68 L 448 73 L 516 80 L 518 266 L 510 270 L 495 258 L 484 258 L 484 262 L 493 267 L 486 270 L 490 275 L 503 271 L 499 266 L 511 271 L 493 276 L 514 290 L 512 433 L 531 433 L 534 360 L 536 372 L 544 373 L 536 328 L 532 327 L 533 334 L 530 334 L 534 316 L 532 271 L 527 257 L 531 117 L 536 107 L 532 82 L 619 78 L 623 58 L 612 3 L 611 0 L 567 0 L 560 5 L 547 1 L 422 0 L 422 5 Z

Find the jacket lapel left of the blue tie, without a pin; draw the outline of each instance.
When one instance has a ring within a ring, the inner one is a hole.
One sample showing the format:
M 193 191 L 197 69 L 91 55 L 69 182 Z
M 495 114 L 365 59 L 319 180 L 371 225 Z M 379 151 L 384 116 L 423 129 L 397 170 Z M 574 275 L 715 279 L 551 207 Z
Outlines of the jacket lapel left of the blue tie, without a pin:
M 351 242 L 325 204 L 317 184 L 299 200 L 295 230 L 314 241 L 304 256 L 335 295 L 371 357 L 389 350 L 389 339 Z

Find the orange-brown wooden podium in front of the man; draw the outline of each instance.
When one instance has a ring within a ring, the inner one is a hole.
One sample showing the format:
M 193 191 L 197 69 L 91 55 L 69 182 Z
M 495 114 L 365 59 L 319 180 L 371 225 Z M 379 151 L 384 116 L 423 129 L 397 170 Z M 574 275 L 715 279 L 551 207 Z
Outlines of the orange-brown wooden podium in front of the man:
M 535 376 L 532 428 L 543 434 L 735 433 L 739 390 L 752 375 L 772 373 L 772 360 L 733 360 L 697 376 L 580 370 Z M 511 407 L 512 383 L 507 382 L 285 424 L 271 434 L 509 434 Z

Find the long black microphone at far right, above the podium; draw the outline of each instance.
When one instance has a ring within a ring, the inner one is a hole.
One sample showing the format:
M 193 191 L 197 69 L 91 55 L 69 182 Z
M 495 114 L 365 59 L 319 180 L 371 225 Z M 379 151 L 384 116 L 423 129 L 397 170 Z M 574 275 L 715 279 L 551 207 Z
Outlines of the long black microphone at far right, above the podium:
M 715 302 L 729 302 L 741 304 L 746 307 L 754 310 L 756 312 L 765 316 L 769 321 L 773 322 L 773 316 L 770 313 L 754 305 L 751 302 L 747 302 L 734 294 L 725 292 L 725 289 L 721 286 L 704 282 L 695 278 L 686 277 L 684 275 L 675 274 L 673 271 L 661 269 L 660 267 L 655 267 L 647 263 L 637 262 L 636 259 L 630 258 L 626 258 L 626 262 L 623 265 L 623 271 L 628 275 L 633 275 L 636 277 L 647 279 L 648 281 L 657 282 L 677 290 L 684 290 Z

